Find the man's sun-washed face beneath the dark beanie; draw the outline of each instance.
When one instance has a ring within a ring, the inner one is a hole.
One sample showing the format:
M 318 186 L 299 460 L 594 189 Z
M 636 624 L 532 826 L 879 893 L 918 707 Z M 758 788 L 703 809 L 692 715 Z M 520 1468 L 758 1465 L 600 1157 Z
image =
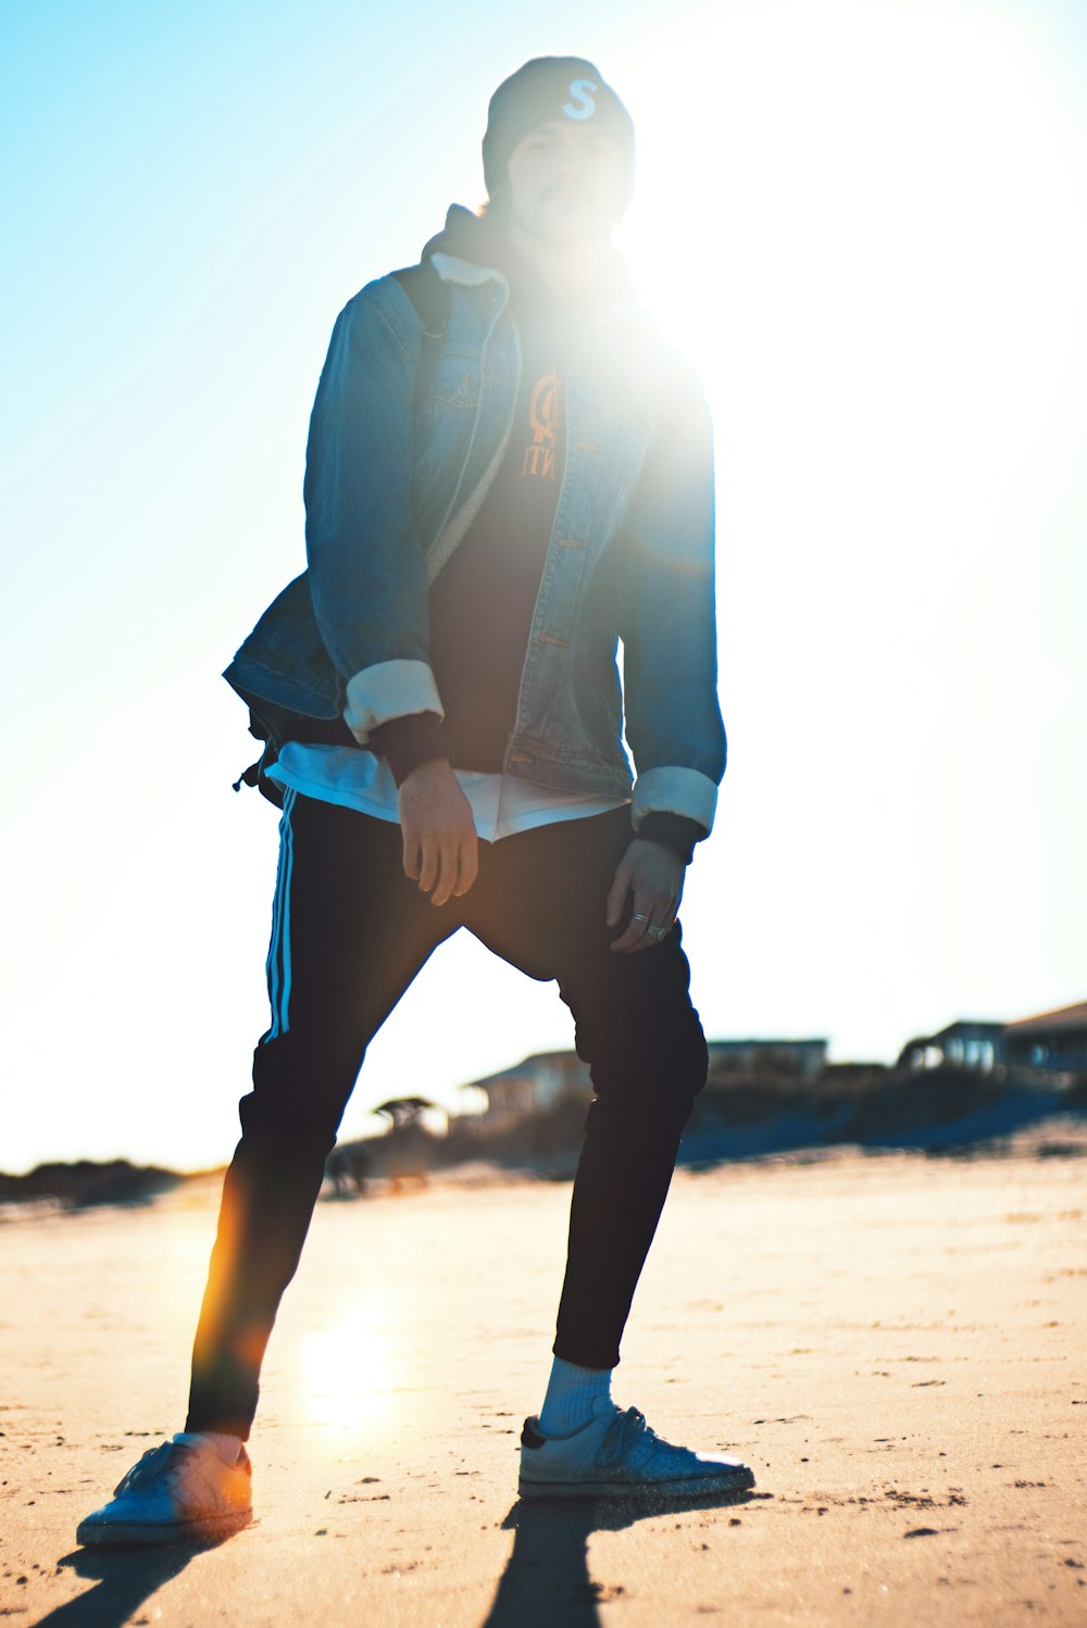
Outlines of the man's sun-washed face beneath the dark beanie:
M 607 236 L 626 204 L 618 142 L 592 125 L 557 119 L 524 135 L 508 164 L 508 207 L 527 236 L 574 244 Z

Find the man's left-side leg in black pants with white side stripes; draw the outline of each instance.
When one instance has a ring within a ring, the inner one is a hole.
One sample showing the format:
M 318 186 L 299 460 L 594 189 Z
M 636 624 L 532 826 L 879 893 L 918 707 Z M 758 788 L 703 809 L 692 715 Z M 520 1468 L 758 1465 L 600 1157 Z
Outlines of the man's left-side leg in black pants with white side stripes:
M 366 1047 L 456 926 L 452 905 L 434 910 L 404 876 L 397 825 L 286 793 L 272 1026 L 223 1185 L 186 1429 L 247 1439 L 264 1351 Z

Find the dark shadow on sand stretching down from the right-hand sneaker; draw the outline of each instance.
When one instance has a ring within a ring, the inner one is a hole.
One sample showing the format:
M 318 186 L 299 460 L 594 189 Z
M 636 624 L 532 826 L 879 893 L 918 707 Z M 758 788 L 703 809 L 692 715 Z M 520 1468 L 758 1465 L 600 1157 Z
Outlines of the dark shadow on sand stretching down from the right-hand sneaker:
M 589 1576 L 589 1538 L 594 1532 L 623 1532 L 638 1521 L 685 1509 L 745 1504 L 760 1493 L 716 1493 L 705 1498 L 659 1499 L 651 1506 L 586 1498 L 576 1503 L 513 1506 L 503 1529 L 514 1532 L 513 1553 L 482 1628 L 599 1628 L 597 1605 L 622 1597 L 623 1586 L 604 1587 Z

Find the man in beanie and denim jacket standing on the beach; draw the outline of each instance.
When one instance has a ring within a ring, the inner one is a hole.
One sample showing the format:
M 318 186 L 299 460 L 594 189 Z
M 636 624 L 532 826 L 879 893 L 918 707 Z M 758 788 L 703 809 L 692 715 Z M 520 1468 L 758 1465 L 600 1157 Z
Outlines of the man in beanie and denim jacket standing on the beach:
M 249 1517 L 260 1363 L 343 1107 L 369 1040 L 461 926 L 557 980 L 594 1084 L 521 1495 L 753 1485 L 610 1398 L 706 1078 L 675 912 L 724 770 L 709 422 L 610 246 L 633 129 L 596 67 L 544 57 L 508 78 L 483 173 L 480 217 L 451 208 L 418 267 L 340 314 L 309 428 L 308 571 L 226 674 L 268 736 L 260 781 L 283 807 L 272 1022 L 186 1428 L 83 1521 L 85 1543 Z

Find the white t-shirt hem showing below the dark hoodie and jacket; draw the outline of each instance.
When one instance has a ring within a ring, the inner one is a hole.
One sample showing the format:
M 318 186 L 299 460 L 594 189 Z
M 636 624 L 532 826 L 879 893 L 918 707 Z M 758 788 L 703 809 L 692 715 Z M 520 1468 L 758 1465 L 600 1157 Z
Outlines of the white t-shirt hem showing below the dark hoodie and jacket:
M 288 741 L 268 768 L 277 786 L 293 786 L 319 803 L 373 814 L 399 825 L 397 783 L 384 757 L 353 746 L 306 746 Z M 461 790 L 472 806 L 475 829 L 483 842 L 501 842 L 519 830 L 586 819 L 623 807 L 630 798 L 597 798 L 592 793 L 553 791 L 511 775 L 477 773 L 454 768 Z

